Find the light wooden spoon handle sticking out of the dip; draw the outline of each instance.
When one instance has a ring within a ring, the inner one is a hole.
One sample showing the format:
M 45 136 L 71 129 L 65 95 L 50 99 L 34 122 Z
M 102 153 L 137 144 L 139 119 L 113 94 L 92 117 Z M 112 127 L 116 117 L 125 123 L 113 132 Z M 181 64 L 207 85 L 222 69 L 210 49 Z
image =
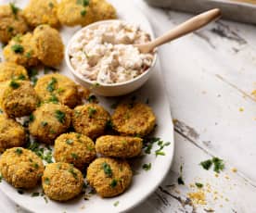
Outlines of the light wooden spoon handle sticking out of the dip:
M 176 26 L 171 31 L 166 32 L 152 42 L 147 44 L 134 44 L 134 46 L 137 47 L 141 53 L 149 53 L 157 46 L 171 42 L 189 32 L 197 31 L 199 28 L 209 24 L 212 20 L 219 18 L 221 18 L 221 10 L 219 8 L 211 9 L 193 17 L 192 19 L 186 20 L 184 23 Z

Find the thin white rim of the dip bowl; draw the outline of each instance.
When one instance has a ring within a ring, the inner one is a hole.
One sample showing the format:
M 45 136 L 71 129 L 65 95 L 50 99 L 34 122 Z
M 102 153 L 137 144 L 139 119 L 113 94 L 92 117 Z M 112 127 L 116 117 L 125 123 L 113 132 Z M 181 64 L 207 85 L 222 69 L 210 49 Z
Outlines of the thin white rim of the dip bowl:
M 106 24 L 106 23 L 110 23 L 110 22 L 118 22 L 118 21 L 122 21 L 122 22 L 126 22 L 129 23 L 128 21 L 124 20 L 124 19 L 107 19 L 107 20 L 100 20 L 100 21 L 96 21 L 92 24 L 89 24 L 83 28 L 81 28 L 79 31 L 76 31 L 72 37 L 70 38 L 66 50 L 65 50 L 65 61 L 68 65 L 68 68 L 70 69 L 71 73 L 77 77 L 78 79 L 80 79 L 81 81 L 86 82 L 87 84 L 91 84 L 92 86 L 104 86 L 104 87 L 115 87 L 115 86 L 124 86 L 130 83 L 133 83 L 134 81 L 138 81 L 139 79 L 143 78 L 145 75 L 148 74 L 149 71 L 152 70 L 152 68 L 156 65 L 157 62 L 157 58 L 158 58 L 158 49 L 156 48 L 154 50 L 154 58 L 153 61 L 151 63 L 151 66 L 146 69 L 142 74 L 136 76 L 134 79 L 129 80 L 129 81 L 123 81 L 123 82 L 115 82 L 115 83 L 102 83 L 102 82 L 97 82 L 97 81 L 90 81 L 87 80 L 83 77 L 83 75 L 81 73 L 79 73 L 78 71 L 76 71 L 75 69 L 73 69 L 71 63 L 70 63 L 70 55 L 69 55 L 69 50 L 70 50 L 70 45 L 73 42 L 73 40 L 78 37 L 78 35 L 81 33 L 81 31 L 84 31 L 85 29 L 89 29 L 92 28 L 94 26 L 100 25 L 100 24 Z M 140 26 L 139 26 L 140 27 Z M 150 35 L 151 40 L 155 39 L 155 36 L 152 32 L 148 32 L 147 33 Z

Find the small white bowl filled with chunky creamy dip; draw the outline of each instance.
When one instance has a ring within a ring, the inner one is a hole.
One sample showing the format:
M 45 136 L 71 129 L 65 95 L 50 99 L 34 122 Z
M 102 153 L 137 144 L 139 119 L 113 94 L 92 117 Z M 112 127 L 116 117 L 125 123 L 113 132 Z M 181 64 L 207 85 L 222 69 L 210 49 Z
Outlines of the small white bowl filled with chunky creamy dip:
M 104 96 L 129 94 L 152 71 L 156 53 L 142 54 L 134 44 L 152 35 L 124 20 L 104 20 L 84 27 L 70 39 L 66 61 L 76 81 Z

